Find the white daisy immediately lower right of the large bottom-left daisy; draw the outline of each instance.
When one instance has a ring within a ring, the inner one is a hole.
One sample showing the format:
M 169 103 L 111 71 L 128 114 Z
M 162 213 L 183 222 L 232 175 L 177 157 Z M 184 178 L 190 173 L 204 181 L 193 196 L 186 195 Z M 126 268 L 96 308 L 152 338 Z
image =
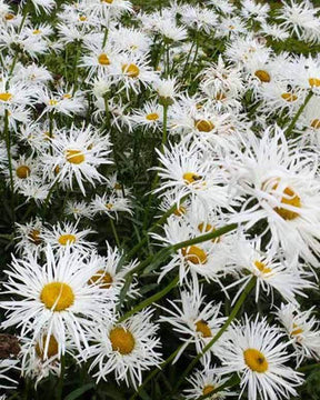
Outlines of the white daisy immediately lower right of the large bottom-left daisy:
M 146 309 L 124 322 L 96 326 L 90 330 L 92 344 L 82 351 L 84 359 L 92 359 L 90 371 L 99 382 L 114 371 L 118 382 L 134 388 L 142 382 L 142 372 L 161 362 L 158 324 L 151 321 L 153 311 Z M 113 379 L 113 378 L 112 378 Z

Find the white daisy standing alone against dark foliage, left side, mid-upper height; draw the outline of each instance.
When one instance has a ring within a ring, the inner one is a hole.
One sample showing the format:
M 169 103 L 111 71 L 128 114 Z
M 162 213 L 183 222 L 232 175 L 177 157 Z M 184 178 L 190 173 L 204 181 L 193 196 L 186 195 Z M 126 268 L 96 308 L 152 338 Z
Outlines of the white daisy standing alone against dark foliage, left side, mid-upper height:
M 61 130 L 51 138 L 53 154 L 43 154 L 44 173 L 58 171 L 56 179 L 67 188 L 73 188 L 76 178 L 81 192 L 86 194 L 84 183 L 93 187 L 94 181 L 102 182 L 103 176 L 98 171 L 101 164 L 111 163 L 109 159 L 110 141 L 92 126 L 84 124 L 79 129 L 73 124 L 70 130 Z

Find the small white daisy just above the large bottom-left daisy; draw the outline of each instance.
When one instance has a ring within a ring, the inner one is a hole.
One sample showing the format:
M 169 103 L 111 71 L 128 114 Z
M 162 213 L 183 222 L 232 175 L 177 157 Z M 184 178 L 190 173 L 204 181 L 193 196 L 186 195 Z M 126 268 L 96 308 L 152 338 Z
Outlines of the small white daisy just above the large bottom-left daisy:
M 86 253 L 94 247 L 94 242 L 86 239 L 90 233 L 96 232 L 91 229 L 79 230 L 78 222 L 57 222 L 50 228 L 43 228 L 42 238 L 58 253 L 63 253 L 67 249 Z

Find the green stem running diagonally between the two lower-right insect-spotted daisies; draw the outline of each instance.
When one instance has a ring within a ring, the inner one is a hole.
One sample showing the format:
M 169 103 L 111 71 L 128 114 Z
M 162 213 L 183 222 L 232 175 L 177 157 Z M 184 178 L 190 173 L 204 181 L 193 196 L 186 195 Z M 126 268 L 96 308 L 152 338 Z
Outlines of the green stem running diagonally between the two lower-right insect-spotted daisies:
M 233 321 L 233 319 L 237 317 L 241 306 L 243 304 L 244 300 L 247 299 L 247 296 L 251 292 L 251 290 L 256 286 L 256 277 L 252 277 L 248 284 L 246 286 L 243 292 L 239 297 L 237 303 L 234 304 L 229 318 L 223 323 L 221 329 L 218 331 L 217 334 L 210 340 L 210 342 L 203 348 L 203 350 L 189 363 L 189 366 L 186 368 L 186 370 L 180 376 L 180 379 L 178 380 L 177 384 L 173 388 L 173 391 L 171 394 L 176 393 L 179 389 L 180 384 L 184 381 L 186 377 L 188 377 L 189 372 L 193 369 L 193 367 L 198 363 L 198 361 L 204 356 L 204 353 L 211 349 L 211 347 L 218 341 L 218 339 L 224 333 L 224 331 L 229 328 L 230 323 Z M 172 398 L 172 397 L 171 397 Z

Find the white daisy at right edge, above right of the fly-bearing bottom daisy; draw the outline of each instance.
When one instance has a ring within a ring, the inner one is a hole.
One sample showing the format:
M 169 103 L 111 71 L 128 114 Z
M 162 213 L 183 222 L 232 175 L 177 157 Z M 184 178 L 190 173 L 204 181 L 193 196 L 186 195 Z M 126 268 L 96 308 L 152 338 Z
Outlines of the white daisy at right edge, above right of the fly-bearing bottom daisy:
M 300 311 L 293 304 L 281 304 L 277 312 L 297 353 L 299 366 L 306 358 L 320 359 L 319 321 L 312 314 L 314 308 Z

